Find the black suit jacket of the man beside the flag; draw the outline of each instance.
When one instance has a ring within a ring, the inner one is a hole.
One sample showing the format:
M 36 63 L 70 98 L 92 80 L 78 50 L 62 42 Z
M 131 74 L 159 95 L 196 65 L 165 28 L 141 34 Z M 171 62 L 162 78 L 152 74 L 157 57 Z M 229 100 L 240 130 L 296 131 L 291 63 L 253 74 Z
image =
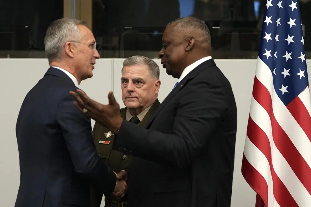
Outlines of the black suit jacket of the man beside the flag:
M 130 206 L 229 207 L 236 129 L 231 85 L 213 59 L 205 61 L 169 93 L 147 129 L 123 121 L 115 142 L 136 156 Z

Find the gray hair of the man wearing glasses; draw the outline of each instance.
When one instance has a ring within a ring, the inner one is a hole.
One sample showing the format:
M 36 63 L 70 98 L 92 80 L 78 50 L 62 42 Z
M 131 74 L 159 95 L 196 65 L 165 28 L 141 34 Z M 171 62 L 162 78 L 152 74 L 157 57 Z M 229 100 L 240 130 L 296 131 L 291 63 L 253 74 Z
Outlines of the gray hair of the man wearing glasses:
M 44 37 L 44 49 L 49 63 L 61 59 L 66 42 L 81 40 L 82 34 L 78 25 L 85 26 L 86 22 L 62 18 L 49 25 Z

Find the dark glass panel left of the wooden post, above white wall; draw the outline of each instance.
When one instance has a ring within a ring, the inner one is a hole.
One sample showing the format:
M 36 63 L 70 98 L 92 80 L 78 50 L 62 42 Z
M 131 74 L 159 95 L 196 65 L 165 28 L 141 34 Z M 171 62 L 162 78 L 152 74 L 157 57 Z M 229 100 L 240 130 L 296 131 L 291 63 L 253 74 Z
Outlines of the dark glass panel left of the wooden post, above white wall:
M 0 57 L 44 58 L 45 30 L 63 13 L 63 0 L 0 1 Z

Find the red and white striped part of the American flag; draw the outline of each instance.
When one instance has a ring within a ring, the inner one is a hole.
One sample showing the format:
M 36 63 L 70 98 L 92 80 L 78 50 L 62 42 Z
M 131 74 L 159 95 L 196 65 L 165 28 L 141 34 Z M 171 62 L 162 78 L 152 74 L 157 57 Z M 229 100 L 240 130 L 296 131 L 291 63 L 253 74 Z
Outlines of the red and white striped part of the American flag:
M 242 174 L 263 201 L 256 207 L 311 207 L 309 87 L 285 106 L 272 78 L 258 57 Z

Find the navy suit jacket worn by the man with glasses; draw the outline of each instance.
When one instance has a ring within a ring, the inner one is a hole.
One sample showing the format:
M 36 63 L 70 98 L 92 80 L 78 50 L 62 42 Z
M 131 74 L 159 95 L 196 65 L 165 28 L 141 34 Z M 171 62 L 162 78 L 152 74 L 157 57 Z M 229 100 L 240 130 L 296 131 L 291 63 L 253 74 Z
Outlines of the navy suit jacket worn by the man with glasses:
M 89 206 L 90 182 L 111 195 L 116 177 L 96 153 L 91 120 L 74 106 L 77 87 L 49 68 L 26 95 L 16 123 L 21 181 L 15 207 Z

